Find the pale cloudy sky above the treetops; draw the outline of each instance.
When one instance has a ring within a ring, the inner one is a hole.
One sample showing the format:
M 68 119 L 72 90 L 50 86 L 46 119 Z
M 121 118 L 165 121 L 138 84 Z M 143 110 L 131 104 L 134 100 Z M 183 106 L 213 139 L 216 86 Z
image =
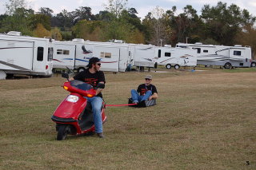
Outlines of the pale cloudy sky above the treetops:
M 27 6 L 35 11 L 38 11 L 41 7 L 48 7 L 54 10 L 54 14 L 60 13 L 62 10 L 68 12 L 78 9 L 79 6 L 89 6 L 92 9 L 93 14 L 98 14 L 99 11 L 105 10 L 105 5 L 108 4 L 108 0 L 25 0 Z M 171 10 L 172 6 L 177 7 L 177 14 L 181 13 L 186 5 L 191 5 L 198 11 L 198 15 L 201 14 L 202 7 L 206 4 L 210 6 L 217 6 L 217 3 L 221 0 L 128 0 L 127 8 L 135 8 L 138 12 L 139 18 L 145 18 L 148 12 L 154 10 L 157 6 L 162 10 Z M 6 12 L 6 2 L 9 0 L 0 0 L 0 14 Z M 246 9 L 256 16 L 256 1 L 255 0 L 222 0 L 226 2 L 227 6 L 232 3 L 239 6 L 241 9 Z

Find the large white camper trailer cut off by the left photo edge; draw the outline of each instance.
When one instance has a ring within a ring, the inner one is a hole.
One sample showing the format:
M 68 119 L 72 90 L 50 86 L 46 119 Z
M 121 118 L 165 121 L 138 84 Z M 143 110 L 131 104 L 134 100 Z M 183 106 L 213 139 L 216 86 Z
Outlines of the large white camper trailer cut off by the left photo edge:
M 14 74 L 50 76 L 52 56 L 50 38 L 32 38 L 11 31 L 0 34 L 0 79 Z

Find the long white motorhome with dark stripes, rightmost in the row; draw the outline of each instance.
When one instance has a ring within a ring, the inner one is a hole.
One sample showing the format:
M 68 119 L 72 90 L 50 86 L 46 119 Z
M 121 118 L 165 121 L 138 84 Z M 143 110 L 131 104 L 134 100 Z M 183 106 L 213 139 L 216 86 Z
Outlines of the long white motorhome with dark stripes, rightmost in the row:
M 199 65 L 220 65 L 225 69 L 250 67 L 251 49 L 242 45 L 202 45 L 202 43 L 178 43 L 176 47 L 197 49 Z

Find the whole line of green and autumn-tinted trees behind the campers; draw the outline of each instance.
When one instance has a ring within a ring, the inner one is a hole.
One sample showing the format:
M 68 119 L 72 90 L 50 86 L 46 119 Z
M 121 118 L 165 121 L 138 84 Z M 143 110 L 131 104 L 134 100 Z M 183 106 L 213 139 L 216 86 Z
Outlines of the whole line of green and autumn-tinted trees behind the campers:
M 256 50 L 256 18 L 235 4 L 202 6 L 201 14 L 187 5 L 181 14 L 176 6 L 159 6 L 138 18 L 135 8 L 126 8 L 128 0 L 109 0 L 106 9 L 92 14 L 89 6 L 59 14 L 48 7 L 38 12 L 26 7 L 26 0 L 9 0 L 6 14 L 0 15 L 0 32 L 16 30 L 33 37 L 56 40 L 83 38 L 106 42 L 122 39 L 130 43 L 175 45 L 178 42 L 202 42 L 212 45 L 250 45 Z

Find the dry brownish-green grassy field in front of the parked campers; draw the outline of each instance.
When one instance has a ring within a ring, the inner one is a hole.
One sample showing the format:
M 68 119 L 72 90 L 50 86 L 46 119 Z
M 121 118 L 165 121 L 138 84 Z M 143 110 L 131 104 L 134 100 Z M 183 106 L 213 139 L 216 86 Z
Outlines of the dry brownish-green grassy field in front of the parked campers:
M 157 105 L 108 107 L 105 139 L 63 141 L 50 119 L 62 77 L 0 81 L 0 169 L 256 169 L 256 69 L 151 74 Z M 106 104 L 126 104 L 145 75 L 106 73 Z

